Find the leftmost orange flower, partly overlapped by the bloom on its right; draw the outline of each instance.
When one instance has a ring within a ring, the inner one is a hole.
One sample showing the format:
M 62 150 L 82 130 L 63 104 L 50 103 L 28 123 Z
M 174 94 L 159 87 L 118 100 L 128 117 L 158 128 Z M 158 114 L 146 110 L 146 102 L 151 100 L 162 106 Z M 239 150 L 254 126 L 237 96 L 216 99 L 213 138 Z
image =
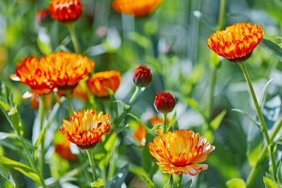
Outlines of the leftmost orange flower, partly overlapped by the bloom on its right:
M 31 87 L 30 92 L 42 95 L 49 94 L 56 87 L 50 81 L 48 65 L 38 60 L 36 56 L 23 58 L 16 67 L 16 75 L 10 76 L 12 80 L 19 80 Z

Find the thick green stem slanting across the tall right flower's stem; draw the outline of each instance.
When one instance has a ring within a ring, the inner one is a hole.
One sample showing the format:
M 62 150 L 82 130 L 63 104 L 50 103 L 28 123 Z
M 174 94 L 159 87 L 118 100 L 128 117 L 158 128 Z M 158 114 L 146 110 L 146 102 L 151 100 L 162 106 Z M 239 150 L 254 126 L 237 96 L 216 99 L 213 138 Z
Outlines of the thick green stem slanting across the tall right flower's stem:
M 278 124 L 274 127 L 274 131 L 272 132 L 270 137 L 271 142 L 274 141 L 274 138 L 278 134 L 279 130 L 281 130 L 281 127 L 282 127 L 282 118 L 279 120 Z M 252 184 L 255 181 L 255 177 L 259 172 L 260 163 L 262 163 L 262 161 L 266 157 L 267 151 L 268 151 L 268 146 L 264 146 L 262 152 L 259 153 L 259 159 L 257 160 L 257 163 L 255 164 L 255 167 L 252 168 L 250 174 L 247 177 L 247 187 L 252 187 Z

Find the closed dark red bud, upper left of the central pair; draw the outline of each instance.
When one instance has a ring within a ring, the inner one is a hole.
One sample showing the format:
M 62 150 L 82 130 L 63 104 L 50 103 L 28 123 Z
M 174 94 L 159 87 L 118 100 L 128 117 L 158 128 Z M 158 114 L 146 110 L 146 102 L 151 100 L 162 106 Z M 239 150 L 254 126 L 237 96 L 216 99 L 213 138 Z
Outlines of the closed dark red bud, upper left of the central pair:
M 151 70 L 145 65 L 138 66 L 133 73 L 133 82 L 138 87 L 147 87 L 152 82 Z

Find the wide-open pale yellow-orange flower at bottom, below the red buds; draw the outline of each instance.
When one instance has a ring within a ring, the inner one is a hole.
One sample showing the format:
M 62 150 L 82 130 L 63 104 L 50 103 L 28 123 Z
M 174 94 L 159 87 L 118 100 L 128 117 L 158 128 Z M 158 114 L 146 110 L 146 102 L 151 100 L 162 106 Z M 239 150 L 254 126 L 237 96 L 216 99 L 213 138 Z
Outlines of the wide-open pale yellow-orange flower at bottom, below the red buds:
M 160 134 L 149 143 L 149 151 L 164 173 L 197 175 L 209 165 L 200 164 L 214 151 L 205 137 L 192 130 L 174 130 Z

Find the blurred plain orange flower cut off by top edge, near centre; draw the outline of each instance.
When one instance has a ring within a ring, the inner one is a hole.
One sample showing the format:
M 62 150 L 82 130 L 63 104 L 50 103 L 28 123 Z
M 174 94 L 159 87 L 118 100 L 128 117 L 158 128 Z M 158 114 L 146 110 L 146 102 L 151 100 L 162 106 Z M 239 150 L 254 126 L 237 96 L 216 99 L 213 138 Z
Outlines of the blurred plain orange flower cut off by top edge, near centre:
M 142 17 L 154 12 L 162 2 L 163 0 L 115 0 L 112 6 L 118 13 Z

